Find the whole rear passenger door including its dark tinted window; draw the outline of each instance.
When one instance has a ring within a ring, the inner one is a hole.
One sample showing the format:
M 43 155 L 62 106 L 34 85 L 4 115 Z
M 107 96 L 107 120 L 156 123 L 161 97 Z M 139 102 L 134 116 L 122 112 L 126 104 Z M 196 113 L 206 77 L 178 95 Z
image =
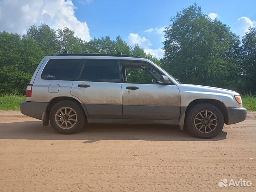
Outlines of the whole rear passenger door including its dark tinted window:
M 89 118 L 122 118 L 122 89 L 117 60 L 85 60 L 71 94 L 84 103 Z

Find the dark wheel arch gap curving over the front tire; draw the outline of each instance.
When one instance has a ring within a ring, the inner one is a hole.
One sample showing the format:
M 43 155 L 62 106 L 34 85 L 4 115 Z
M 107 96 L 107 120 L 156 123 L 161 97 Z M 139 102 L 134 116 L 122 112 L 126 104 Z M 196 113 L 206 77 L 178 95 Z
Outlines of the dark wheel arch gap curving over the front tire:
M 219 110 L 222 112 L 223 116 L 224 116 L 224 122 L 228 122 L 228 110 L 225 106 L 225 104 L 219 100 L 215 100 L 215 99 L 196 99 L 193 100 L 189 103 L 189 105 L 186 108 L 185 113 L 194 105 L 196 105 L 197 103 L 210 103 L 216 107 L 219 108 Z M 185 116 L 186 118 L 186 116 Z

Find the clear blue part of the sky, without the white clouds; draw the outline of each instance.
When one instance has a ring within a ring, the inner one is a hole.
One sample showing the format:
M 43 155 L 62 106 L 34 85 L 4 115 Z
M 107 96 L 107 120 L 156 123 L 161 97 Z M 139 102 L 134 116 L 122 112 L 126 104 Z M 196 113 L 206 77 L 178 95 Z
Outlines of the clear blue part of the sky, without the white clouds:
M 81 3 L 84 2 L 84 3 Z M 256 20 L 256 1 L 170 1 L 170 0 L 74 0 L 78 9 L 76 17 L 86 21 L 92 37 L 102 37 L 108 34 L 112 38 L 121 35 L 127 38 L 130 33 L 138 33 L 150 39 L 152 48 L 161 46 L 161 39 L 150 33 L 144 33 L 149 28 L 161 28 L 170 25 L 170 17 L 175 16 L 182 8 L 197 2 L 205 14 L 216 13 L 217 19 L 235 28 L 240 17 Z

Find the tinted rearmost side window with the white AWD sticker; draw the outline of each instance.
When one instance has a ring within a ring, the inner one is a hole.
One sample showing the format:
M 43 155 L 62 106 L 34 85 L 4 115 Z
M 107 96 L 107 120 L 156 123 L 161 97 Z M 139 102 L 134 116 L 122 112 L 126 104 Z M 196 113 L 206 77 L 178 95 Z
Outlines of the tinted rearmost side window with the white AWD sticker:
M 50 59 L 41 74 L 42 79 L 72 81 L 80 59 Z

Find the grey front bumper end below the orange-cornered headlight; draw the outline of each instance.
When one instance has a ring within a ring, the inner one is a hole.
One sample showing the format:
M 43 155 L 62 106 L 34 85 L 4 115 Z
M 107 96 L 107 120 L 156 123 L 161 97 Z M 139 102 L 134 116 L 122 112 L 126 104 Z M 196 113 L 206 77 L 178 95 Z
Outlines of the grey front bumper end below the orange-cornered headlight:
M 247 110 L 244 107 L 227 107 L 228 120 L 225 124 L 235 124 L 244 121 L 247 116 Z

